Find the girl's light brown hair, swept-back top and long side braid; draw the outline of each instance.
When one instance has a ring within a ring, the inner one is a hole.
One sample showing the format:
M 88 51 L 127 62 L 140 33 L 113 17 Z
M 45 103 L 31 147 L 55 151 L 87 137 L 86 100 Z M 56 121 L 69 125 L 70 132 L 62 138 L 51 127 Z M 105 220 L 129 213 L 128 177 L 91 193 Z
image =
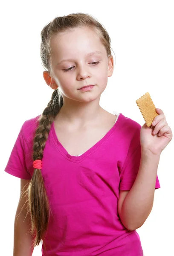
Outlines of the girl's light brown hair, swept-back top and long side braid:
M 44 68 L 52 74 L 50 40 L 59 32 L 67 32 L 74 28 L 88 27 L 99 35 L 107 55 L 111 55 L 110 37 L 106 29 L 94 17 L 84 13 L 73 13 L 63 17 L 55 17 L 41 31 L 41 60 Z M 49 84 L 50 85 L 50 84 Z M 46 140 L 55 116 L 63 105 L 63 97 L 59 89 L 55 89 L 47 107 L 38 118 L 38 128 L 33 140 L 33 160 L 42 160 Z M 46 234 L 51 209 L 46 195 L 41 169 L 34 169 L 28 189 L 29 214 L 31 217 L 31 235 L 34 236 L 33 246 L 40 244 Z

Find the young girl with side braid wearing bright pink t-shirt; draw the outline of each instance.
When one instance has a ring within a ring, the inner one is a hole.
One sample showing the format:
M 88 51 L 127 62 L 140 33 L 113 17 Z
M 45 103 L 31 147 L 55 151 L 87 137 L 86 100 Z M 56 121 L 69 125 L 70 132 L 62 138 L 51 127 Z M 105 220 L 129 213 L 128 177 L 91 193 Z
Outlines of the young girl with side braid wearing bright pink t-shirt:
M 113 56 L 90 15 L 47 24 L 41 59 L 52 99 L 23 123 L 5 169 L 21 179 L 14 256 L 32 255 L 41 240 L 43 256 L 142 256 L 136 229 L 151 212 L 160 154 L 172 139 L 164 113 L 157 109 L 154 135 L 100 107 Z

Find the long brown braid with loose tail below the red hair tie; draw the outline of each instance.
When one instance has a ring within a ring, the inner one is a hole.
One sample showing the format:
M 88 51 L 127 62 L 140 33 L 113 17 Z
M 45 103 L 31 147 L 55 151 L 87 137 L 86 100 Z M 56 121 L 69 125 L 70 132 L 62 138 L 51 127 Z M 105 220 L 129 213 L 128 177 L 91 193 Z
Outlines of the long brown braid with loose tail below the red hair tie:
M 62 96 L 59 96 L 58 90 L 54 90 L 50 102 L 38 119 L 39 125 L 35 131 L 35 137 L 33 140 L 33 160 L 42 160 L 51 124 L 57 113 L 60 111 L 62 105 Z M 44 239 L 44 233 L 49 222 L 50 213 L 49 201 L 46 195 L 41 169 L 34 170 L 28 187 L 28 197 L 32 224 L 31 234 L 32 236 L 36 234 L 34 242 L 35 247 L 36 245 L 39 245 L 41 239 Z

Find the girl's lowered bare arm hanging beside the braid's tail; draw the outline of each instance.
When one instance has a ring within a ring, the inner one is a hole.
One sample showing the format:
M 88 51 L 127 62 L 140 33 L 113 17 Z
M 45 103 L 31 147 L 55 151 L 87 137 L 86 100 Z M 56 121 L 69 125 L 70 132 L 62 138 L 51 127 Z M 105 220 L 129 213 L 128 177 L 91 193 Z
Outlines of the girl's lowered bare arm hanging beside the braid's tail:
M 32 237 L 29 233 L 31 222 L 28 211 L 28 202 L 24 190 L 29 185 L 30 180 L 21 179 L 20 182 L 20 200 L 14 220 L 14 249 L 13 256 L 32 256 L 34 247 L 32 247 Z M 22 194 L 23 193 L 23 194 Z

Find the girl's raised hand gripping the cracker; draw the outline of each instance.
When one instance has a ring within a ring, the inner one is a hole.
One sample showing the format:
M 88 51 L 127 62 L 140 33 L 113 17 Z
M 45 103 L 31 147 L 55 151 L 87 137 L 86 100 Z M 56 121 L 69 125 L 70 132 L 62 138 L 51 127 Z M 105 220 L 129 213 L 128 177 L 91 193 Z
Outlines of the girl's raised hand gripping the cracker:
M 147 150 L 154 155 L 160 156 L 162 150 L 171 141 L 173 135 L 171 128 L 165 120 L 165 115 L 161 109 L 156 108 L 156 112 L 159 114 L 155 116 L 152 122 L 152 128 L 147 127 L 146 123 L 142 126 L 140 131 L 140 144 L 142 150 Z M 155 131 L 155 134 L 154 134 Z

